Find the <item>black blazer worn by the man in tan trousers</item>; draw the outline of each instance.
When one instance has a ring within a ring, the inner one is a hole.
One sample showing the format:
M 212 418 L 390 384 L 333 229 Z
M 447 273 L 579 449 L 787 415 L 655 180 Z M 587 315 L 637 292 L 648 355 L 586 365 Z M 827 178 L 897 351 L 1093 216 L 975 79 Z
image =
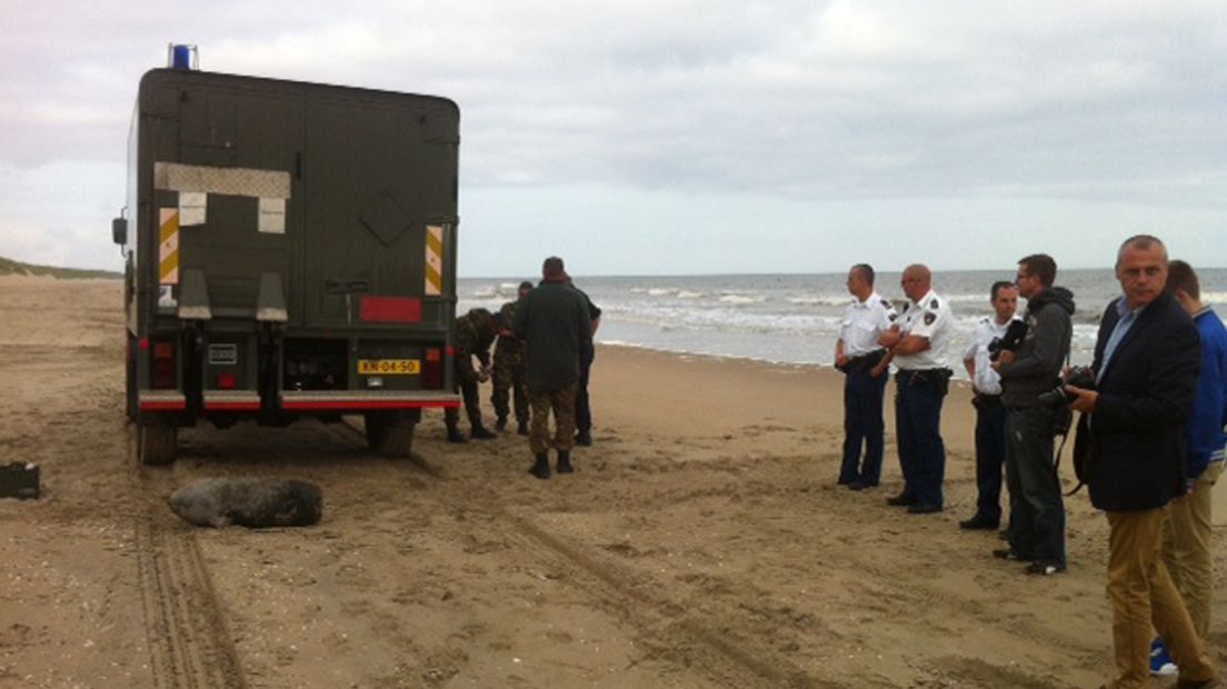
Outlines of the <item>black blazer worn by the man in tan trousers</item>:
M 1164 292 L 1139 314 L 1103 369 L 1104 346 L 1120 320 L 1117 302 L 1103 314 L 1094 346 L 1099 400 L 1085 429 L 1085 476 L 1096 508 L 1151 510 L 1184 492 L 1184 425 L 1198 391 L 1201 341 L 1193 319 Z

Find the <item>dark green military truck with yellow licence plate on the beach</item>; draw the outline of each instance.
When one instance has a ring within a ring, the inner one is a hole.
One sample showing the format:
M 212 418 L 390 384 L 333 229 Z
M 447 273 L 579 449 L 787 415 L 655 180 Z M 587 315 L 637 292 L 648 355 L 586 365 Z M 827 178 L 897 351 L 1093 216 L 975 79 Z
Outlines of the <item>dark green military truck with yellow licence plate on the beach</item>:
M 141 462 L 201 421 L 342 414 L 405 456 L 423 408 L 459 406 L 459 120 L 432 96 L 142 76 L 112 224 Z

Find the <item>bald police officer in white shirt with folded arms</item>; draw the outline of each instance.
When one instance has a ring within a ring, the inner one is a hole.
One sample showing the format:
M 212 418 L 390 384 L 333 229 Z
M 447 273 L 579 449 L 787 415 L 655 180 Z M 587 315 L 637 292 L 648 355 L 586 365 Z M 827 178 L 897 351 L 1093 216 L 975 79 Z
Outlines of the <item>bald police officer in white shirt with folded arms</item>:
M 904 268 L 902 284 L 908 303 L 894 326 L 879 340 L 899 368 L 894 379 L 894 433 L 903 490 L 887 503 L 907 505 L 909 514 L 940 512 L 946 477 L 941 403 L 952 374 L 946 349 L 955 315 L 946 299 L 933 291 L 933 273 L 926 266 Z

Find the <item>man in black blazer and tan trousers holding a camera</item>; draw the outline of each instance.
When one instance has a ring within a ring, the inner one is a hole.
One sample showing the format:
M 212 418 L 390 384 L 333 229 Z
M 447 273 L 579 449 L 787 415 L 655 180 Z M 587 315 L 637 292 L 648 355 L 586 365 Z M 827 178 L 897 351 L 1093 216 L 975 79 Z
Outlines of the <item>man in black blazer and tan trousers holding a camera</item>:
M 1094 390 L 1069 385 L 1082 412 L 1075 454 L 1091 504 L 1108 515 L 1108 596 L 1117 674 L 1109 689 L 1150 685 L 1151 625 L 1180 668 L 1177 688 L 1214 687 L 1205 652 L 1160 555 L 1168 503 L 1185 492 L 1184 428 L 1198 391 L 1198 329 L 1166 291 L 1167 249 L 1136 235 L 1117 254 L 1124 295 L 1103 314 Z M 1080 454 L 1080 447 L 1086 447 Z

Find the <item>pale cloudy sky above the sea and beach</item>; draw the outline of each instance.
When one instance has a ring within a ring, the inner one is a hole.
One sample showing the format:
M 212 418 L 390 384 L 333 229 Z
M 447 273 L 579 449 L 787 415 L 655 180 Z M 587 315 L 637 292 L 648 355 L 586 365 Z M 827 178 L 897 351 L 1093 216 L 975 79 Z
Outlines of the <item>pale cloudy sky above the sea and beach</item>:
M 0 256 L 121 270 L 140 76 L 445 96 L 464 277 L 1227 266 L 1227 2 L 0 0 Z

